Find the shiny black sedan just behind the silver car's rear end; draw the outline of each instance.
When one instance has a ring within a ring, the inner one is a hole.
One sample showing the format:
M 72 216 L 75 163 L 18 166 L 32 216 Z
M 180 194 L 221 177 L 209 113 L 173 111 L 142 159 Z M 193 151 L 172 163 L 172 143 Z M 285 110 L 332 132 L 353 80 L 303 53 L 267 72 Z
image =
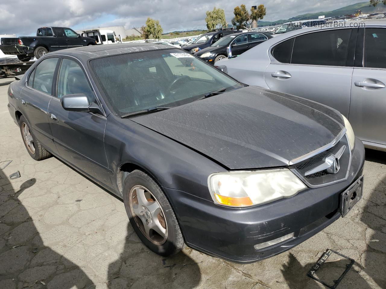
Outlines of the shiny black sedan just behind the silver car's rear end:
M 218 60 L 228 57 L 228 47 L 232 52 L 232 56 L 236 56 L 269 38 L 272 38 L 272 36 L 262 32 L 240 32 L 230 34 L 222 37 L 209 47 L 199 50 L 195 55 L 210 64 L 214 64 Z

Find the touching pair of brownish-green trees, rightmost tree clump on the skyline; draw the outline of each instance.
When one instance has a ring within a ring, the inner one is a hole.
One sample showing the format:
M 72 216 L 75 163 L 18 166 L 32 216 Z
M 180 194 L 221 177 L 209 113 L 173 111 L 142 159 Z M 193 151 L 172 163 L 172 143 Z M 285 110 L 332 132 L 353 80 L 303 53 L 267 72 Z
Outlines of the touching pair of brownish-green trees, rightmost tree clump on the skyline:
M 385 0 L 386 1 L 386 0 Z M 232 24 L 236 25 L 237 29 L 251 28 L 252 21 L 264 18 L 266 15 L 266 8 L 260 4 L 257 9 L 251 8 L 251 13 L 247 10 L 244 4 L 240 7 L 235 7 L 233 11 L 235 17 L 232 19 Z

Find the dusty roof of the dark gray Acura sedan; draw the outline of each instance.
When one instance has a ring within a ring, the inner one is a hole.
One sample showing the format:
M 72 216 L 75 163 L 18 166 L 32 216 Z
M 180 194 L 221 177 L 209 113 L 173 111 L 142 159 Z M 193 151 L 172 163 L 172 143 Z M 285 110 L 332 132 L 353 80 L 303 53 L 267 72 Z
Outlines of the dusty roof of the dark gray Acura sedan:
M 82 47 L 58 50 L 55 52 L 50 52 L 46 55 L 55 55 L 55 54 L 69 55 L 69 56 L 76 57 L 82 62 L 83 61 L 86 62 L 89 59 L 98 58 L 102 56 L 145 52 L 145 51 L 159 50 L 159 49 L 178 49 L 178 48 L 171 47 L 170 45 L 164 45 L 164 44 L 131 42 L 131 43 L 119 43 L 119 44 L 82 46 Z M 186 52 L 185 50 L 183 51 Z

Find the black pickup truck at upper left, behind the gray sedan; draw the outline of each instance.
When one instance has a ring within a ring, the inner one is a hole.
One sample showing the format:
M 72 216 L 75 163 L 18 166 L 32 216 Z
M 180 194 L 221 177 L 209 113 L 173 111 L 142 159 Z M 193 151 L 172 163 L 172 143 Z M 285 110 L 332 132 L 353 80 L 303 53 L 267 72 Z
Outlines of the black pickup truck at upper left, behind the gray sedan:
M 33 56 L 38 59 L 48 52 L 95 44 L 95 39 L 81 37 L 70 28 L 42 27 L 37 29 L 36 36 L 2 38 L 0 49 L 4 54 L 17 55 L 19 60 L 29 61 Z

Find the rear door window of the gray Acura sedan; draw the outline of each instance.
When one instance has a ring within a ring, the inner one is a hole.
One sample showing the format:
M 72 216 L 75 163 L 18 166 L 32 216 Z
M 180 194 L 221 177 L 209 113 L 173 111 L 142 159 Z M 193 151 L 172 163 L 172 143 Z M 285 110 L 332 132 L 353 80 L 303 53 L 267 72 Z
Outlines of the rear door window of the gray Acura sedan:
M 54 79 L 54 72 L 57 63 L 57 57 L 42 60 L 42 62 L 40 62 L 30 74 L 28 85 L 34 89 L 51 95 L 52 80 Z

